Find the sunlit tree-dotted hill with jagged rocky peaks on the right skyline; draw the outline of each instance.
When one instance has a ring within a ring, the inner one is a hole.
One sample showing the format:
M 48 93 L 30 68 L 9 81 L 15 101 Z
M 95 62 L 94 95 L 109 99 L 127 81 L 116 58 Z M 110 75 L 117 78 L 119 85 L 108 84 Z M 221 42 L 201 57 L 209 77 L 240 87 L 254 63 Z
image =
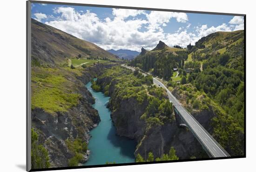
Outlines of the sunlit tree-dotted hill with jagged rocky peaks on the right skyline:
M 146 51 L 142 48 L 141 53 L 131 61 L 131 65 L 138 66 L 145 71 L 151 71 L 153 74 L 160 74 L 160 77 L 162 77 L 165 75 L 164 73 L 168 73 L 167 71 L 171 70 L 166 69 L 169 68 L 167 67 L 169 65 L 173 68 L 180 68 L 188 61 L 197 61 L 203 64 L 210 57 L 224 53 L 230 55 L 230 59 L 226 64 L 227 67 L 234 69 L 243 67 L 243 30 L 211 33 L 198 40 L 195 46 L 189 44 L 187 48 L 169 47 L 160 40 L 151 51 Z M 166 79 L 169 79 L 169 75 Z

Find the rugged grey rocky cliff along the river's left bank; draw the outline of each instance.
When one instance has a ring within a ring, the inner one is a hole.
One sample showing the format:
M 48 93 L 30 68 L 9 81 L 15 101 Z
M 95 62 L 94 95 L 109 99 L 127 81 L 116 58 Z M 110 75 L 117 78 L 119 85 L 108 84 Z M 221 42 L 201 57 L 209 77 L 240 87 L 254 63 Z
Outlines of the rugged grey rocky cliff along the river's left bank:
M 67 148 L 66 139 L 79 137 L 88 143 L 88 132 L 97 126 L 101 119 L 98 111 L 91 106 L 94 104 L 94 98 L 84 84 L 113 65 L 97 64 L 88 67 L 77 79 L 70 77 L 76 83 L 75 89 L 81 94 L 81 98 L 78 104 L 67 112 L 51 114 L 41 108 L 32 110 L 32 127 L 39 132 L 39 142 L 48 151 L 51 167 L 68 166 L 68 159 L 74 156 Z

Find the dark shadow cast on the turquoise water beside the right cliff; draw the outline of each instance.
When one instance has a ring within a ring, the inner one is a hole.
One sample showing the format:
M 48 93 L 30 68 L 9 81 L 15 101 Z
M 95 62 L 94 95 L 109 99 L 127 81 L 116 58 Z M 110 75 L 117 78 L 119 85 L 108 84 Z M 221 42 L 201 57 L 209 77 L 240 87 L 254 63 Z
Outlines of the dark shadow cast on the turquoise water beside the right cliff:
M 107 138 L 116 148 L 120 148 L 120 153 L 122 156 L 135 159 L 135 156 L 134 156 L 135 147 L 136 147 L 135 140 L 117 136 L 116 128 L 113 125 L 112 121 L 111 121 L 111 129 L 108 132 Z

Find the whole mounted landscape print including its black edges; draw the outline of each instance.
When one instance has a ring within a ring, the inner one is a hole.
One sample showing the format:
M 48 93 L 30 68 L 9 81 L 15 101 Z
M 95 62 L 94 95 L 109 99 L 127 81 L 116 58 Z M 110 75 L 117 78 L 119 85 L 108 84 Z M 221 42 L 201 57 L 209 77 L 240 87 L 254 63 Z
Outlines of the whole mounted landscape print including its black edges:
M 27 1 L 27 171 L 244 157 L 244 14 Z

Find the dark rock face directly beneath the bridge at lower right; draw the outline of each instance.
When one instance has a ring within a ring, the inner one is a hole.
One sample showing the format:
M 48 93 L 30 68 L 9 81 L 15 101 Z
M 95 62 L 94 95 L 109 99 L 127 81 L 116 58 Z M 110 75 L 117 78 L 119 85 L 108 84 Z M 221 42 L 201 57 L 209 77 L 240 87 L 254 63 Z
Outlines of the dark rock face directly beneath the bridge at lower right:
M 135 154 L 140 153 L 148 157 L 148 152 L 153 152 L 155 157 L 162 157 L 168 153 L 170 147 L 176 150 L 179 159 L 208 157 L 194 135 L 186 128 L 179 128 L 175 120 L 164 126 L 157 126 L 147 131 L 138 144 Z

